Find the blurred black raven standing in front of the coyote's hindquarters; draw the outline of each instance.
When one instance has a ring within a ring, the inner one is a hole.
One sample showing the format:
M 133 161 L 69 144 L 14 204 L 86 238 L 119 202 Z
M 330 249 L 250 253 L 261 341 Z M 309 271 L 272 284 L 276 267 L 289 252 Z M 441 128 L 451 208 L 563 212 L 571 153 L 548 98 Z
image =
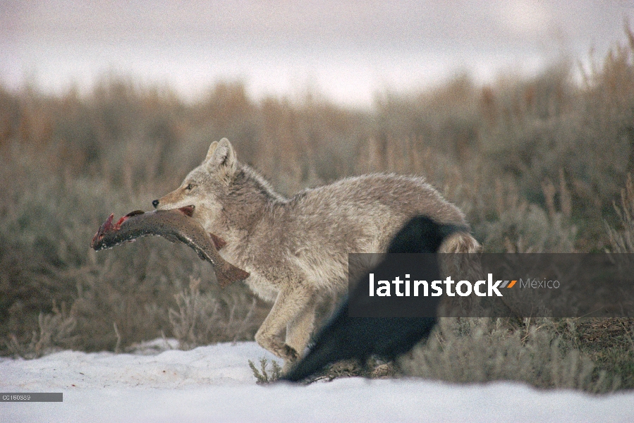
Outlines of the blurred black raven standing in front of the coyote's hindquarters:
M 459 231 L 468 231 L 468 228 L 417 216 L 394 236 L 388 252 L 435 253 L 447 236 Z M 373 271 L 379 271 L 384 264 L 382 262 Z M 440 278 L 437 257 L 425 272 L 429 281 Z M 355 297 L 359 290 L 365 291 L 367 286 L 359 283 L 351 296 Z M 366 297 L 364 301 L 365 306 L 372 307 L 372 304 L 367 304 L 368 301 L 378 305 L 384 297 Z M 437 300 L 427 301 L 432 301 L 432 314 L 435 316 Z M 363 365 L 371 355 L 394 360 L 427 338 L 436 324 L 436 317 L 348 317 L 348 302 L 349 299 L 343 302 L 329 323 L 317 333 L 313 348 L 281 380 L 302 381 L 328 364 L 341 360 L 358 359 Z

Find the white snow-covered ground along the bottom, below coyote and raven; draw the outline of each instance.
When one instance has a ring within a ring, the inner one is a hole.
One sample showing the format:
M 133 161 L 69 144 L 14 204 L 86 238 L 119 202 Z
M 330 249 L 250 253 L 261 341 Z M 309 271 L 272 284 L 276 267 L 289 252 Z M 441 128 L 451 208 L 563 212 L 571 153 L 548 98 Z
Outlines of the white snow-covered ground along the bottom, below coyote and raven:
M 255 343 L 161 345 L 0 358 L 1 392 L 63 392 L 62 403 L 0 403 L 0 422 L 634 422 L 632 391 L 360 378 L 258 386 L 248 360 L 273 357 Z

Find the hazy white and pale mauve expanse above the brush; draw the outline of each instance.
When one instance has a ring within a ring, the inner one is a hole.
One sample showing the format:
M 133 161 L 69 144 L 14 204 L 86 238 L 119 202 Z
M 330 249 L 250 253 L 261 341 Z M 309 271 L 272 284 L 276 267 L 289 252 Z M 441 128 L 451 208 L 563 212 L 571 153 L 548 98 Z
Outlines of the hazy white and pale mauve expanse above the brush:
M 634 26 L 634 0 L 0 0 L 0 79 L 90 87 L 114 71 L 195 99 L 219 79 L 252 94 L 368 104 L 386 88 L 535 73 L 601 57 Z

